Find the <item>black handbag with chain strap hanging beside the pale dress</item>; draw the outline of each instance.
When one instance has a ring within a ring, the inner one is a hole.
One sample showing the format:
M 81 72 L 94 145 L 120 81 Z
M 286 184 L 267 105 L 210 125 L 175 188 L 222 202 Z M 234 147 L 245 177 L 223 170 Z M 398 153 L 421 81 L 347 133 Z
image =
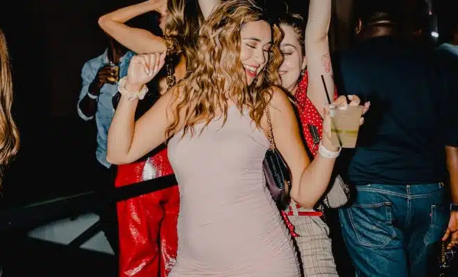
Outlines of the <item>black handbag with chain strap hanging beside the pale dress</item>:
M 289 206 L 291 189 L 291 174 L 282 155 L 275 148 L 273 139 L 271 113 L 269 107 L 266 108 L 266 118 L 268 124 L 269 150 L 262 162 L 264 176 L 266 177 L 266 186 L 269 188 L 271 196 L 280 210 L 285 210 Z

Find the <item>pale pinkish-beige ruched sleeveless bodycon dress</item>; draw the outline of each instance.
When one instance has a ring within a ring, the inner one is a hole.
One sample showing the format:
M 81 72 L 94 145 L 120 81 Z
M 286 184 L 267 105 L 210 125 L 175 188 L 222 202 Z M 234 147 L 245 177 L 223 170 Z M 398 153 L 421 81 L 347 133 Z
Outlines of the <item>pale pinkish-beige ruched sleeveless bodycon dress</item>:
M 266 136 L 235 107 L 202 134 L 178 132 L 169 160 L 180 188 L 178 256 L 169 277 L 297 277 L 297 255 L 266 188 Z M 221 127 L 222 126 L 222 127 Z

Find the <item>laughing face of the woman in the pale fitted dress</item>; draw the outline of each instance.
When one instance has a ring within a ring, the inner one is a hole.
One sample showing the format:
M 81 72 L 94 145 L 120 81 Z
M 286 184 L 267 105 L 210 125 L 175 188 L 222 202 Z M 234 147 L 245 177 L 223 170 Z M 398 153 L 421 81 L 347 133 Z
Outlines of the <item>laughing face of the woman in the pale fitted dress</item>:
M 250 85 L 269 60 L 271 26 L 262 20 L 248 22 L 241 28 L 240 36 L 240 60 L 244 64 L 246 82 Z

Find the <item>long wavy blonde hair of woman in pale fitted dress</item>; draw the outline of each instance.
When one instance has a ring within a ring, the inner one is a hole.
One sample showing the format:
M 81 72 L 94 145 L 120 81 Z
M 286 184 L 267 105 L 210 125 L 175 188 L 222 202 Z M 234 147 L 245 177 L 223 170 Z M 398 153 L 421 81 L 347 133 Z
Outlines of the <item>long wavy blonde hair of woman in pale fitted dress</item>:
M 246 73 L 240 60 L 240 31 L 253 21 L 271 24 L 272 40 L 269 62 L 248 87 Z M 212 12 L 203 23 L 196 45 L 196 60 L 189 66 L 189 77 L 178 84 L 180 96 L 173 101 L 173 123 L 167 137 L 176 132 L 180 111 L 184 111 L 183 134 L 194 134 L 194 125 L 205 122 L 205 127 L 221 113 L 226 123 L 228 100 L 238 109 L 249 110 L 259 127 L 264 109 L 271 99 L 271 86 L 280 84 L 278 68 L 283 57 L 280 51 L 282 31 L 253 0 L 228 0 Z M 225 92 L 229 87 L 230 91 Z M 176 104 L 176 106 L 175 106 Z

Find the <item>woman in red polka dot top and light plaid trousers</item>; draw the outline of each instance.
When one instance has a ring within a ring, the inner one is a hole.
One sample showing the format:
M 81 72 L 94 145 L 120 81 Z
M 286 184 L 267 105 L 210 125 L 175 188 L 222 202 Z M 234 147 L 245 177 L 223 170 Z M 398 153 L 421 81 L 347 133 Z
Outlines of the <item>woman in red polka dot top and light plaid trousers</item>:
M 328 97 L 336 98 L 336 93 L 328 44 L 331 0 L 311 0 L 309 5 L 306 30 L 300 15 L 288 14 L 280 20 L 285 33 L 281 44 L 285 61 L 279 73 L 282 87 L 291 93 L 296 102 L 307 148 L 315 156 L 323 130 L 323 103 L 328 102 Z M 329 96 L 326 96 L 322 75 L 326 87 L 331 88 L 328 89 Z M 298 244 L 304 276 L 338 276 L 329 229 L 321 220 L 322 213 L 291 202 L 285 215 Z

